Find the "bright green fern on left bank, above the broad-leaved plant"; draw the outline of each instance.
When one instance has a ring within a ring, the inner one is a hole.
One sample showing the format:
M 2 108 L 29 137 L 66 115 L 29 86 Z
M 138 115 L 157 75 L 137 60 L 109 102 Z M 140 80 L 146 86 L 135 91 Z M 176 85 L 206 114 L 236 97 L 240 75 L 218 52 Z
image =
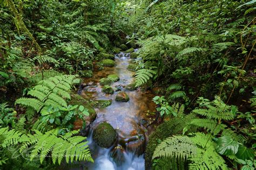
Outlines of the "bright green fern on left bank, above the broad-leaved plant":
M 52 107 L 67 107 L 65 98 L 70 99 L 70 89 L 75 75 L 57 75 L 38 82 L 28 95 L 35 98 L 22 97 L 16 104 L 33 108 L 37 112 L 51 105 Z

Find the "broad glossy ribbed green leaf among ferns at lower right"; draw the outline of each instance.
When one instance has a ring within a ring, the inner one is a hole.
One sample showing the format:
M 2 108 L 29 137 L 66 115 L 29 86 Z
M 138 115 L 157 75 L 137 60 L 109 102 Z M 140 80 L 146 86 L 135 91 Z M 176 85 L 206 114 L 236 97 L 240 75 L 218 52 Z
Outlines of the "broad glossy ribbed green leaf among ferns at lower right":
M 223 155 L 233 155 L 238 152 L 239 143 L 232 138 L 223 136 L 216 141 L 216 151 Z

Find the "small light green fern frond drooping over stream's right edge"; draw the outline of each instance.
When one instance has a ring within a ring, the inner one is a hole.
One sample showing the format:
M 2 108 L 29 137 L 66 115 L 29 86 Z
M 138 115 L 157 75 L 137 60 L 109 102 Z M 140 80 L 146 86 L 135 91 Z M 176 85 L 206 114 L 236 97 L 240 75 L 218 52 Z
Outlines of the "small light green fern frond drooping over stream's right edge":
M 154 70 L 151 69 L 140 69 L 135 74 L 135 83 L 136 87 L 142 86 L 145 84 L 153 75 L 156 74 Z

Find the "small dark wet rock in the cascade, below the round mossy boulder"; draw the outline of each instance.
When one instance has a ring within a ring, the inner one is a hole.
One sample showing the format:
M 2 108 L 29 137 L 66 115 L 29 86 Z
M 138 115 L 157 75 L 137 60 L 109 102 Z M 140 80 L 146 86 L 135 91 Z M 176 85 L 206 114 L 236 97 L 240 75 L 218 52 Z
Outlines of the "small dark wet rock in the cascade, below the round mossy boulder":
M 124 152 L 124 148 L 120 145 L 114 147 L 110 151 L 110 157 L 113 159 L 114 162 L 116 162 L 117 166 L 120 166 L 123 162 L 125 162 Z

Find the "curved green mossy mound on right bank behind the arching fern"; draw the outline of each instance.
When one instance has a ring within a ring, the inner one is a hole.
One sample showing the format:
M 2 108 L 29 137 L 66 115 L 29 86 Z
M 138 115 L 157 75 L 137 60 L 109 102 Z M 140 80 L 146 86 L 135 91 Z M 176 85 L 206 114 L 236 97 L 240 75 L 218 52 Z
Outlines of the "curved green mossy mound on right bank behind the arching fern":
M 196 116 L 194 116 L 194 114 L 184 116 L 184 118 L 174 117 L 170 121 L 160 124 L 156 130 L 150 134 L 149 143 L 147 143 L 145 151 L 145 169 L 151 169 L 152 156 L 157 145 L 167 137 L 171 137 L 174 134 L 181 134 L 183 128 L 185 128 L 187 125 L 186 123 L 189 123 L 191 119 L 195 117 Z M 193 128 L 190 130 L 190 132 L 192 131 Z

